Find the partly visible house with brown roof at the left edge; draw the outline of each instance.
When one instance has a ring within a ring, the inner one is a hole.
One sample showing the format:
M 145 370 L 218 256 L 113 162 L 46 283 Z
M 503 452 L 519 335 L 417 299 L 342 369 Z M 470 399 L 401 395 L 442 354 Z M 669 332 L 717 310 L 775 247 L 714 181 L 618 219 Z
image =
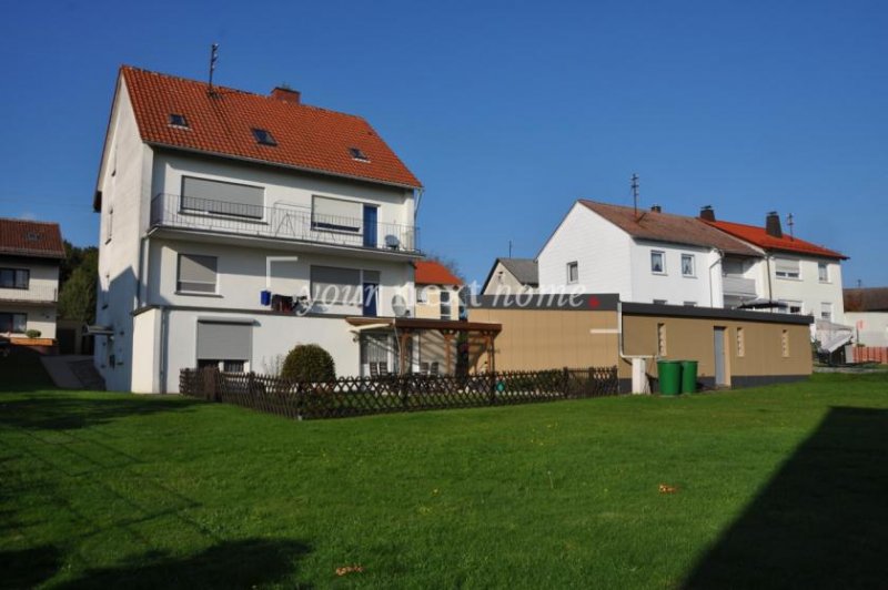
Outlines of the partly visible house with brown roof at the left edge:
M 59 224 L 0 218 L 0 335 L 56 338 L 63 258 Z

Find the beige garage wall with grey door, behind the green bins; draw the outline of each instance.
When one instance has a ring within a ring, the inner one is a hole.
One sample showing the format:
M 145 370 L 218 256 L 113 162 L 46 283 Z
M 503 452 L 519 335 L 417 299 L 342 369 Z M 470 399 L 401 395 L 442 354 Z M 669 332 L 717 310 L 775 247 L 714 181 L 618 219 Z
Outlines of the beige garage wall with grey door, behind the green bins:
M 657 325 L 666 330 L 666 358 L 699 362 L 700 377 L 715 375 L 714 330 L 724 327 L 725 357 L 731 376 L 789 376 L 811 373 L 810 329 L 807 325 L 777 324 L 715 318 L 664 316 L 623 316 L 624 352 L 627 355 L 657 353 Z M 738 328 L 743 329 L 743 354 L 738 349 Z M 783 333 L 788 338 L 788 356 L 784 356 Z M 620 364 L 620 376 L 628 365 Z M 648 373 L 657 375 L 656 366 Z

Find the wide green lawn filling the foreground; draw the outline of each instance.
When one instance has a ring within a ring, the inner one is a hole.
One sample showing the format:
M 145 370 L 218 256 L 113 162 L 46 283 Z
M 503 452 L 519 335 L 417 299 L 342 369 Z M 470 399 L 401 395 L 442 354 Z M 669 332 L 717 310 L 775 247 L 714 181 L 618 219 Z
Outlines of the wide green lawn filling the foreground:
M 299 423 L 37 372 L 0 359 L 9 588 L 886 583 L 885 375 Z

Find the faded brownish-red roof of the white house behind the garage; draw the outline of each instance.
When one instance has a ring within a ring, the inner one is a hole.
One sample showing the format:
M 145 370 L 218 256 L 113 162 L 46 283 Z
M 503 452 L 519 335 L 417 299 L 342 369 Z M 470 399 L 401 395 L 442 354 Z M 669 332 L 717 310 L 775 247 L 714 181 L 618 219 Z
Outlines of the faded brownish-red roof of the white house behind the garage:
M 657 213 L 633 207 L 581 200 L 579 203 L 640 240 L 717 248 L 729 254 L 761 257 L 761 253 L 739 240 L 709 227 L 697 217 Z

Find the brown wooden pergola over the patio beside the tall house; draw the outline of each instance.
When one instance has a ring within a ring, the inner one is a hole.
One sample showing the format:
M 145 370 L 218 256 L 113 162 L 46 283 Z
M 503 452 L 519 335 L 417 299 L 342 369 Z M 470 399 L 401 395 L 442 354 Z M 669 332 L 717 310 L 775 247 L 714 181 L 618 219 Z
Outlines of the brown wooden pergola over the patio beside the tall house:
M 453 374 L 453 339 L 458 334 L 467 334 L 470 342 L 473 337 L 480 337 L 484 343 L 487 354 L 487 367 L 493 372 L 496 369 L 496 352 L 494 340 L 502 332 L 502 324 L 487 324 L 484 322 L 454 322 L 451 319 L 423 319 L 415 317 L 346 317 L 345 322 L 355 326 L 359 330 L 363 329 L 387 329 L 391 328 L 397 337 L 398 370 L 407 373 L 410 363 L 407 362 L 407 343 L 410 339 L 422 332 L 437 332 L 446 343 L 446 373 Z

